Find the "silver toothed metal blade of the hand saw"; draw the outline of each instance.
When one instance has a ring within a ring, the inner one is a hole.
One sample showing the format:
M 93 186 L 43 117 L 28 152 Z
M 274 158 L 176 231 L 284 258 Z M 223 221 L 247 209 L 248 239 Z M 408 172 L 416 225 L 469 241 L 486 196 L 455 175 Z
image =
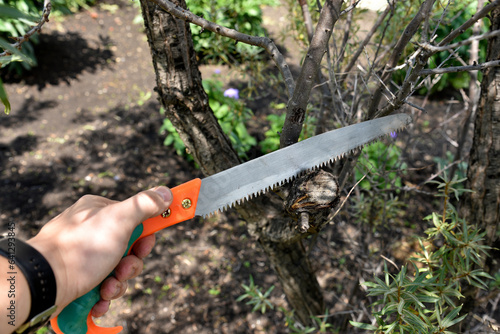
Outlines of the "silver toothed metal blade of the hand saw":
M 223 211 L 297 175 L 341 158 L 377 138 L 398 131 L 411 122 L 396 114 L 332 130 L 257 159 L 204 178 L 196 215 Z

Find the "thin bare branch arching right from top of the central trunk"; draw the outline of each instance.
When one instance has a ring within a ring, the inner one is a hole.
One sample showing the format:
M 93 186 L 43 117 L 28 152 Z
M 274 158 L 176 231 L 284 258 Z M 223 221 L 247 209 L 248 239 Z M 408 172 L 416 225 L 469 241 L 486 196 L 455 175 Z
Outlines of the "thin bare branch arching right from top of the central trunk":
M 267 37 L 259 37 L 259 36 L 250 36 L 247 34 L 243 34 L 237 30 L 226 28 L 224 26 L 218 25 L 216 23 L 210 22 L 201 18 L 197 15 L 194 15 L 190 11 L 181 8 L 179 6 L 174 5 L 172 2 L 168 0 L 151 0 L 160 6 L 163 10 L 170 13 L 171 15 L 193 24 L 196 24 L 203 29 L 214 32 L 218 35 L 229 37 L 239 42 L 243 42 L 250 45 L 255 45 L 263 48 L 266 52 L 271 56 L 275 64 L 278 66 L 281 75 L 283 76 L 283 80 L 285 81 L 285 85 L 288 89 L 289 96 L 292 96 L 295 90 L 295 81 L 293 80 L 292 72 L 288 67 L 288 64 L 283 57 L 283 54 L 278 50 L 274 42 Z

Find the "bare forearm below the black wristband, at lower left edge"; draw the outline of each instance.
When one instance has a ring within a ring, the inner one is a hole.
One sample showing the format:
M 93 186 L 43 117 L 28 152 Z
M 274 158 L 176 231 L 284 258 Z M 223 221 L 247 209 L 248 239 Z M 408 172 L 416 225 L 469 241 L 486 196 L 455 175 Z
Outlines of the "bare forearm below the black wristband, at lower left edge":
M 22 271 L 0 256 L 0 333 L 12 333 L 28 318 L 31 296 Z

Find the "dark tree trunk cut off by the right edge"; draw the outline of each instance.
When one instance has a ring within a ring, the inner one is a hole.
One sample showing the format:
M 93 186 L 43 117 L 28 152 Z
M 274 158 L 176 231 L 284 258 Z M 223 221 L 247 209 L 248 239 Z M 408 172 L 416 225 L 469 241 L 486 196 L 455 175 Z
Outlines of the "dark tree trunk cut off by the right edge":
M 491 12 L 491 31 L 500 29 L 500 9 Z M 500 59 L 500 38 L 488 42 L 486 61 Z M 474 139 L 467 171 L 468 221 L 486 231 L 486 244 L 498 247 L 500 225 L 500 68 L 483 73 L 481 95 L 474 124 Z M 496 245 L 495 245 L 496 244 Z M 495 252 L 495 250 L 492 250 Z M 494 274 L 500 269 L 499 257 L 491 256 L 485 270 Z

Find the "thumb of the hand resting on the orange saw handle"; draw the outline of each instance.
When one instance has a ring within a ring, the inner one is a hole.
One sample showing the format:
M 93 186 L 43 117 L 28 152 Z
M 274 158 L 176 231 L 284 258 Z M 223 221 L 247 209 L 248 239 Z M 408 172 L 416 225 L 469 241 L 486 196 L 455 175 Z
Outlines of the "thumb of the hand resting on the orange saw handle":
M 158 216 L 172 204 L 169 188 L 160 186 L 140 192 L 114 205 L 114 213 L 122 224 L 134 229 L 148 218 Z

